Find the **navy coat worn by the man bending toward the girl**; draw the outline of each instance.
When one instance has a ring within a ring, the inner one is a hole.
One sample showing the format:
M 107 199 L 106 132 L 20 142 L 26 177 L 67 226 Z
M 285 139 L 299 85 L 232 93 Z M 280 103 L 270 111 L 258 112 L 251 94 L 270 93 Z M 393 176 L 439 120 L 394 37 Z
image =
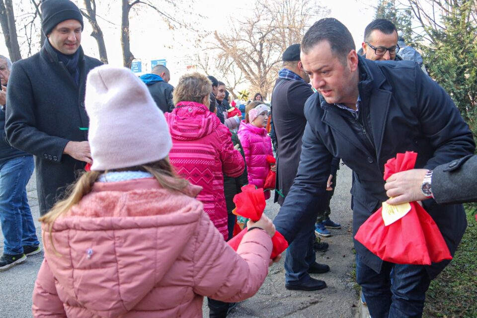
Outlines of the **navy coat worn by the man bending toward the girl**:
M 472 132 L 454 102 L 417 64 L 359 57 L 358 67 L 358 120 L 347 110 L 326 103 L 318 93 L 305 105 L 307 125 L 297 177 L 274 220 L 277 231 L 289 242 L 303 227 L 314 225 L 316 206 L 326 201 L 333 157 L 341 158 L 354 173 L 354 235 L 387 200 L 383 173 L 388 159 L 414 151 L 418 154 L 416 168 L 433 169 L 474 153 Z M 454 254 L 467 227 L 463 206 L 439 205 L 434 199 L 423 201 L 423 206 Z M 383 261 L 356 240 L 354 245 L 357 257 L 379 272 Z M 447 264 L 426 266 L 429 277 L 434 278 Z

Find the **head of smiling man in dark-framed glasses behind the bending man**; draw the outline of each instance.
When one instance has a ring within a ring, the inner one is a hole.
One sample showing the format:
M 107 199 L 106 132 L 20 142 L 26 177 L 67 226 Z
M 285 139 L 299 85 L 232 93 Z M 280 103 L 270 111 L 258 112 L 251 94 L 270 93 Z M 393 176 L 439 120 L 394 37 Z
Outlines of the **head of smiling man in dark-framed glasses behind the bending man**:
M 397 45 L 397 30 L 393 22 L 386 19 L 372 21 L 364 30 L 363 54 L 373 61 L 400 61 Z

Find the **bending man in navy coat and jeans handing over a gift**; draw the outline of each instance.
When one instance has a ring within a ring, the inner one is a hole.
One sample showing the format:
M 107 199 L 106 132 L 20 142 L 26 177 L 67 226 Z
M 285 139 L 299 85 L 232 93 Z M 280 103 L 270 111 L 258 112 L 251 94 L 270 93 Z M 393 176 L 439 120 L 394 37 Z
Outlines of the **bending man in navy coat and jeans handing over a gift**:
M 274 220 L 289 242 L 313 226 L 316 206 L 326 200 L 333 157 L 354 173 L 356 234 L 388 199 L 383 179 L 388 159 L 414 151 L 416 168 L 433 169 L 474 153 L 473 135 L 452 99 L 417 64 L 358 57 L 348 29 L 333 18 L 316 22 L 301 50 L 303 68 L 318 92 L 305 105 L 307 125 L 297 177 Z M 432 198 L 422 204 L 454 254 L 467 227 L 463 206 L 439 205 Z M 431 279 L 449 262 L 394 264 L 356 240 L 354 246 L 357 282 L 371 316 L 420 317 Z

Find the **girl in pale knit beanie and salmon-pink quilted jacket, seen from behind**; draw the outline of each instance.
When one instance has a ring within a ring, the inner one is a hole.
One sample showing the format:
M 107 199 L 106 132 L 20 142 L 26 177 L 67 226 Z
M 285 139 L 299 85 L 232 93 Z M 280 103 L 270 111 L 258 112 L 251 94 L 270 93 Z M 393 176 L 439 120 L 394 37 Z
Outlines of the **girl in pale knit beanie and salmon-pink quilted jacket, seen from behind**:
M 89 72 L 85 104 L 93 164 L 40 219 L 33 316 L 201 318 L 203 296 L 253 296 L 267 275 L 271 221 L 249 223 L 237 252 L 224 241 L 195 199 L 202 188 L 174 173 L 164 115 L 131 70 Z

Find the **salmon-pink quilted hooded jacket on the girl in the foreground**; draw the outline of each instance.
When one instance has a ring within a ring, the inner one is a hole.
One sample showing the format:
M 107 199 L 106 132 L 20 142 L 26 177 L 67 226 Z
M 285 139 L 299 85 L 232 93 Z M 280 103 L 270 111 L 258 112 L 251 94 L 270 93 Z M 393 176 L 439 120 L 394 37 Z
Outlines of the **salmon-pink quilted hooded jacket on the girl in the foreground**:
M 172 192 L 154 178 L 94 184 L 49 229 L 33 291 L 34 317 L 202 317 L 203 296 L 253 296 L 272 243 L 247 233 L 235 252 L 202 203 L 200 187 Z

